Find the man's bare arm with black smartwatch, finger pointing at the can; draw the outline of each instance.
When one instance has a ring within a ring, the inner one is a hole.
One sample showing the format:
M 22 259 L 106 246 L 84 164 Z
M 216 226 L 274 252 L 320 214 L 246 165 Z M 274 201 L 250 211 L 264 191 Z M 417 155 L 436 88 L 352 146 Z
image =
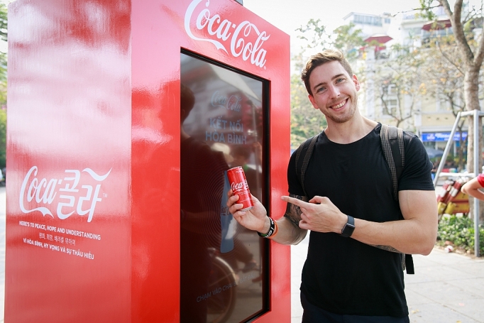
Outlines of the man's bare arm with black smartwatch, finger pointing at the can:
M 341 234 L 348 219 L 327 197 L 317 196 L 309 202 L 292 197 L 283 199 L 301 207 L 299 227 L 302 229 Z M 399 200 L 403 220 L 378 223 L 355 218 L 356 229 L 351 239 L 389 251 L 429 254 L 437 236 L 435 192 L 400 191 Z

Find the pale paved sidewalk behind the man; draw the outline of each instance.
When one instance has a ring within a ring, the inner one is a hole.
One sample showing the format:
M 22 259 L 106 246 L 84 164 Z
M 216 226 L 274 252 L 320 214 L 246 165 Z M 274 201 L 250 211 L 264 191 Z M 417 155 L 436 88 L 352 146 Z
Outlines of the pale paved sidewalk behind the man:
M 308 235 L 309 236 L 309 235 Z M 300 323 L 301 270 L 309 239 L 291 246 L 292 323 Z M 484 323 L 484 258 L 445 253 L 415 255 L 415 275 L 405 274 L 405 294 L 412 323 Z

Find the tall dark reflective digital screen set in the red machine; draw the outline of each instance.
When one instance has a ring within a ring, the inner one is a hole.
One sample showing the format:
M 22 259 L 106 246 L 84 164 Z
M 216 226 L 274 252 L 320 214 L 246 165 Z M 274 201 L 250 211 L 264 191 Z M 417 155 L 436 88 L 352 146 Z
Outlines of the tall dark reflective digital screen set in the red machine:
M 241 166 L 264 203 L 265 83 L 181 54 L 180 322 L 246 322 L 265 309 L 267 241 L 226 207 Z

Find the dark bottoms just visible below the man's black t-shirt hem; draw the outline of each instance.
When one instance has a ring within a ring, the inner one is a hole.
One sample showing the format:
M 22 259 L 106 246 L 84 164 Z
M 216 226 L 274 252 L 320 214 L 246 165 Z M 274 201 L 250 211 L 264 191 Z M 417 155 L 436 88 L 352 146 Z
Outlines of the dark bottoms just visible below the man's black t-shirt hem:
M 327 312 L 307 301 L 301 292 L 301 304 L 304 310 L 302 323 L 409 323 L 408 317 L 382 317 L 365 315 L 341 315 Z

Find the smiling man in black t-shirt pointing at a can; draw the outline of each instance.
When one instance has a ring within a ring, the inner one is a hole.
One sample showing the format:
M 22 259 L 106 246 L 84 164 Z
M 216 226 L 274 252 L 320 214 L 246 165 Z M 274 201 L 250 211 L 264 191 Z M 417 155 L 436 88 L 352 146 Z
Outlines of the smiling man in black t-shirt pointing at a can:
M 255 198 L 255 207 L 241 212 L 238 196 L 231 196 L 229 210 L 243 226 L 272 234 L 268 237 L 279 243 L 299 243 L 311 230 L 302 271 L 302 322 L 409 322 L 400 253 L 429 254 L 437 234 L 432 165 L 424 146 L 413 135 L 405 145 L 396 202 L 381 124 L 358 111 L 360 83 L 343 55 L 324 50 L 312 56 L 302 80 L 314 109 L 328 122 L 306 170 L 308 196 L 292 154 L 284 217 L 272 224 Z

